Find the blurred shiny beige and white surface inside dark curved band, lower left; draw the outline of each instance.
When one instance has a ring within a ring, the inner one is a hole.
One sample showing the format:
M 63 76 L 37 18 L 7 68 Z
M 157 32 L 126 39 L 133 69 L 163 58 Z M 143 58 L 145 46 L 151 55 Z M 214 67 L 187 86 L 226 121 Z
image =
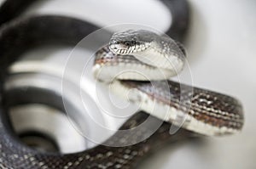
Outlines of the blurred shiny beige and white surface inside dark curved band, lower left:
M 73 153 L 87 149 L 87 141 L 67 116 L 42 104 L 15 106 L 11 121 L 21 142 L 44 152 Z

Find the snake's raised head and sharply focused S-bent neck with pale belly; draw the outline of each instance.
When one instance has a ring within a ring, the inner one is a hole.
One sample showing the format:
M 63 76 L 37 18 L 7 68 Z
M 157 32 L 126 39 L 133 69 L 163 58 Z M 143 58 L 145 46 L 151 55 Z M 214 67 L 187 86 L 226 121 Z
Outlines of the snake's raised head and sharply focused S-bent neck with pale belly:
M 189 90 L 186 85 L 165 81 L 183 70 L 184 49 L 177 44 L 152 31 L 114 33 L 108 47 L 96 54 L 95 76 L 104 81 L 118 75 L 116 78 L 121 82 L 112 82 L 113 92 L 122 98 L 130 92 L 130 101 L 135 104 L 143 102 L 141 109 L 146 112 L 160 110 L 151 114 L 163 121 L 175 123 L 178 115 L 187 115 L 183 127 L 190 131 L 205 135 L 240 131 L 243 117 L 241 104 L 236 99 L 199 88 Z M 127 72 L 117 72 L 124 70 Z M 136 90 L 131 92 L 132 88 Z M 187 89 L 182 91 L 182 88 Z M 183 95 L 188 100 L 180 103 Z

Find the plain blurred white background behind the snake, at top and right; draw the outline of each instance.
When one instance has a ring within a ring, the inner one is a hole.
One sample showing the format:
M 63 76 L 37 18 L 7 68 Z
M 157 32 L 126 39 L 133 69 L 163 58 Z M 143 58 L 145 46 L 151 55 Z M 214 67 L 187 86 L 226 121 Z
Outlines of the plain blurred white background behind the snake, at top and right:
M 256 3 L 253 0 L 189 0 L 191 25 L 186 40 L 196 87 L 241 100 L 245 126 L 240 134 L 207 138 L 200 144 L 167 146 L 142 168 L 255 168 L 256 157 Z M 52 0 L 36 3 L 27 14 L 65 14 L 97 25 L 138 23 L 165 31 L 172 18 L 155 0 Z M 51 54 L 54 57 L 54 54 Z M 186 68 L 184 75 L 188 74 Z M 184 80 L 184 82 L 186 82 Z

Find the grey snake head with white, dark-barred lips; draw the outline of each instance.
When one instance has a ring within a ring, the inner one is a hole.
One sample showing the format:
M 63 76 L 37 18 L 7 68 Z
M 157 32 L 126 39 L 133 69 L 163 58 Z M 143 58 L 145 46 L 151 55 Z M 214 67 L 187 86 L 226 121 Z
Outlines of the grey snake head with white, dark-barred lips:
M 146 50 L 153 41 L 153 32 L 128 30 L 116 32 L 110 39 L 109 49 L 114 54 L 134 54 Z

